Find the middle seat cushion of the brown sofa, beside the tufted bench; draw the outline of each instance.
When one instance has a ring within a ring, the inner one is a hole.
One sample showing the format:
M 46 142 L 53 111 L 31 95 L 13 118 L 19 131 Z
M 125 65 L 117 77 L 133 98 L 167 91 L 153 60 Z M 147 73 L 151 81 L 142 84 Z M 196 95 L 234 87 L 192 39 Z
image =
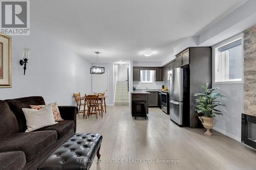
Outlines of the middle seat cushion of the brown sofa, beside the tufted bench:
M 0 152 L 23 151 L 29 162 L 57 140 L 56 131 L 15 133 L 0 140 Z

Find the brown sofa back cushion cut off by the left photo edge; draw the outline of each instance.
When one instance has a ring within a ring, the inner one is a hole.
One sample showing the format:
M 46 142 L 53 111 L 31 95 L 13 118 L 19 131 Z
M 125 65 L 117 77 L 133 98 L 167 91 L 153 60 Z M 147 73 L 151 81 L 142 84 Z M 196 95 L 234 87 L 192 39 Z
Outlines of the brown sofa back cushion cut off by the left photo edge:
M 0 100 L 0 139 L 19 132 L 18 122 L 5 101 Z

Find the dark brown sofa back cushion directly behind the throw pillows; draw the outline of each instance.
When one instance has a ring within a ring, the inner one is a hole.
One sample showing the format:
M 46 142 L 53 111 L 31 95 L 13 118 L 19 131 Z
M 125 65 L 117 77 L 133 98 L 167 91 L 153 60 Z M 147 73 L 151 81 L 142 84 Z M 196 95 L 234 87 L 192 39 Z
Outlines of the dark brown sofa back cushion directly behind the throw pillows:
M 19 132 L 25 132 L 27 129 L 26 118 L 22 111 L 22 108 L 30 108 L 30 105 L 45 105 L 45 101 L 41 96 L 31 96 L 5 101 L 8 103 L 10 109 L 17 118 Z

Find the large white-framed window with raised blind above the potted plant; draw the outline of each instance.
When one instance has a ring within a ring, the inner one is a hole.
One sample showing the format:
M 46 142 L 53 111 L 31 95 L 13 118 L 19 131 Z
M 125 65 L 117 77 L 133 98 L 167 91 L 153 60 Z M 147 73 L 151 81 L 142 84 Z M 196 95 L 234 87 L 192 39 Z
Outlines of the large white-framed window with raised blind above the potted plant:
M 214 46 L 214 82 L 242 82 L 242 35 L 232 37 Z

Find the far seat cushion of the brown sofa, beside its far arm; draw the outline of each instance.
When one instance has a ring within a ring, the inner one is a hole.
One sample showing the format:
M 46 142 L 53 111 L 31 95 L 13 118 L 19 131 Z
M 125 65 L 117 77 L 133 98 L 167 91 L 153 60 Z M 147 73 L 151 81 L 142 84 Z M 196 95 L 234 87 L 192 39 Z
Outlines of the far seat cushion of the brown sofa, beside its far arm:
M 37 129 L 36 131 L 46 131 L 54 130 L 58 134 L 58 139 L 62 138 L 64 135 L 69 134 L 74 130 L 74 121 L 73 120 L 63 120 L 58 122 L 56 125 L 47 126 L 44 128 Z

